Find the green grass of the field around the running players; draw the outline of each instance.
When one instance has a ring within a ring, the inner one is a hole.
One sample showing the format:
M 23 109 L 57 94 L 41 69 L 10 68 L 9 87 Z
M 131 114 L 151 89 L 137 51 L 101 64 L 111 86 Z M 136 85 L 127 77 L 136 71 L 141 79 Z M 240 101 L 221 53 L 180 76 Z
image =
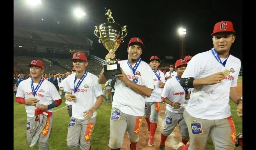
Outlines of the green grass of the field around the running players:
M 239 76 L 239 82 L 242 82 L 242 77 Z M 242 132 L 242 119 L 236 115 L 236 104 L 232 101 L 229 102 L 231 106 L 232 118 L 236 126 L 236 134 Z M 35 145 L 33 148 L 29 147 L 26 140 L 26 124 L 27 124 L 27 114 L 25 112 L 25 106 L 18 104 L 13 99 L 14 105 L 14 149 L 15 150 L 27 150 L 27 149 L 38 149 Z M 65 108 L 62 108 L 65 107 Z M 60 109 L 62 108 L 62 109 Z M 58 110 L 60 109 L 60 110 Z M 65 99 L 62 97 L 62 104 L 54 108 L 53 110 L 58 110 L 54 112 L 54 120 L 52 125 L 51 137 L 49 138 L 49 148 L 51 150 L 69 150 L 66 144 L 67 138 L 67 126 L 69 123 L 69 116 L 67 115 L 67 109 L 65 104 Z M 92 134 L 92 149 L 93 150 L 106 150 L 108 149 L 109 141 L 109 117 L 111 113 L 111 105 L 102 104 L 97 110 L 97 121 Z M 211 137 L 209 137 L 207 142 L 207 147 L 209 150 L 214 150 Z M 80 148 L 77 148 L 80 149 Z M 241 148 L 235 148 L 236 150 L 241 150 Z

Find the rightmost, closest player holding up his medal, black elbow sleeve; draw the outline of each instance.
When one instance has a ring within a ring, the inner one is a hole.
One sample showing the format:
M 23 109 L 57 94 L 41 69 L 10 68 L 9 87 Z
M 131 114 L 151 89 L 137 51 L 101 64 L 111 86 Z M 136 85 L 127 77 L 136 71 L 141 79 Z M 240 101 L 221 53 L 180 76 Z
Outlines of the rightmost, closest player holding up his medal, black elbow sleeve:
M 182 75 L 181 85 L 192 89 L 184 110 L 190 144 L 179 143 L 180 149 L 202 150 L 209 135 L 215 149 L 234 149 L 236 131 L 229 98 L 242 111 L 242 99 L 236 91 L 241 61 L 229 55 L 234 33 L 232 22 L 216 23 L 211 34 L 213 48 L 195 55 Z

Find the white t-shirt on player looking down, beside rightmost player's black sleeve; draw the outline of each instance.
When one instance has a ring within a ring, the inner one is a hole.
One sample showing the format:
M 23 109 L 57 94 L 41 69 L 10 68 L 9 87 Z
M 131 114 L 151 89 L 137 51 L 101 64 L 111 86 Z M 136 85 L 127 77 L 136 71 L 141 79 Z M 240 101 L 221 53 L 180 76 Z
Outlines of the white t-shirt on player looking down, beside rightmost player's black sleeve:
M 190 89 L 188 89 L 189 91 Z M 169 104 L 166 104 L 166 109 L 173 113 L 183 113 L 184 108 L 183 105 L 187 105 L 189 100 L 185 99 L 186 93 L 183 87 L 180 85 L 180 82 L 176 79 L 176 76 L 167 80 L 164 85 L 163 93 L 161 97 L 168 98 L 172 102 L 179 102 L 180 108 L 175 109 Z

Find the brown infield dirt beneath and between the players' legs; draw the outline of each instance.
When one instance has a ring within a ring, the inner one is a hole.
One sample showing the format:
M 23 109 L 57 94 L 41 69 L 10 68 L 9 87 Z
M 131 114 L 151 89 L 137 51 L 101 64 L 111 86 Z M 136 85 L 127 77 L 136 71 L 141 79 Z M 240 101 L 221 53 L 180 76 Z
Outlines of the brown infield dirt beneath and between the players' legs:
M 237 87 L 236 87 L 239 95 L 242 96 L 242 82 L 241 83 L 237 83 Z M 148 138 L 149 138 L 149 134 L 150 132 L 147 130 L 146 128 L 146 121 L 143 118 L 143 122 L 142 122 L 142 127 L 140 129 L 139 132 L 139 142 L 136 146 L 137 150 L 158 150 L 159 149 L 159 144 L 160 144 L 160 140 L 161 140 L 161 130 L 164 126 L 164 113 L 165 113 L 165 104 L 161 104 L 160 105 L 160 113 L 159 113 L 159 117 L 158 117 L 158 126 L 157 126 L 157 130 L 155 133 L 155 137 L 154 137 L 154 144 L 155 146 L 153 147 L 149 147 L 148 144 Z M 179 131 L 179 125 L 177 125 L 177 127 L 173 130 L 173 133 L 168 136 L 166 142 L 165 142 L 165 149 L 168 150 L 175 150 L 178 147 L 178 143 L 181 142 L 181 135 L 180 135 L 180 131 Z M 124 140 L 123 140 L 123 146 L 122 146 L 122 150 L 130 150 L 130 141 L 128 139 L 127 133 L 125 133 L 124 136 Z M 207 148 L 206 148 L 207 150 Z

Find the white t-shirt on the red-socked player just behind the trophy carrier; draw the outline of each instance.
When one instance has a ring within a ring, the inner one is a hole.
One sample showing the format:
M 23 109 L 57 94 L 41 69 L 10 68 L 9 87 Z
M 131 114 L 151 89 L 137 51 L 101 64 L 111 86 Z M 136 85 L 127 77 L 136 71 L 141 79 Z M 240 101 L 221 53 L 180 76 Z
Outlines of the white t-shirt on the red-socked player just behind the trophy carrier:
M 162 71 L 157 71 L 156 73 L 160 74 L 160 80 L 157 78 L 157 76 L 154 73 L 155 71 L 152 70 L 153 74 L 153 81 L 154 81 L 154 90 L 151 93 L 151 96 L 148 98 L 146 97 L 146 102 L 161 102 L 161 94 L 162 94 L 162 88 L 159 87 L 159 82 L 165 83 L 164 79 L 164 73 Z

